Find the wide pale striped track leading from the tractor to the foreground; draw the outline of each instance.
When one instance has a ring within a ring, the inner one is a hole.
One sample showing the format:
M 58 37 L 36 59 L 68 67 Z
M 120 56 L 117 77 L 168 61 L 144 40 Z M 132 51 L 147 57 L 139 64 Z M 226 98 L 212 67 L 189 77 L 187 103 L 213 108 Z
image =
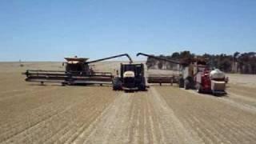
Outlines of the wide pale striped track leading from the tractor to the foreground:
M 69 142 L 67 142 L 69 143 Z M 158 92 L 123 93 L 74 143 L 198 143 Z

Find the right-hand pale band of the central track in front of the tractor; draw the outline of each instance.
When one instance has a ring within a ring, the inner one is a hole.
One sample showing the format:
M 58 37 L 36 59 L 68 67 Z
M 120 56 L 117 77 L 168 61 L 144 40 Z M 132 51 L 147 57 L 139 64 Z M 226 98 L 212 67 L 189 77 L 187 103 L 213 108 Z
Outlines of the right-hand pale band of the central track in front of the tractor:
M 174 114 L 174 111 L 166 104 L 158 91 L 154 87 L 150 88 L 150 101 L 158 116 L 158 126 L 160 130 L 160 143 L 199 143 L 199 138 L 192 137 L 182 122 Z

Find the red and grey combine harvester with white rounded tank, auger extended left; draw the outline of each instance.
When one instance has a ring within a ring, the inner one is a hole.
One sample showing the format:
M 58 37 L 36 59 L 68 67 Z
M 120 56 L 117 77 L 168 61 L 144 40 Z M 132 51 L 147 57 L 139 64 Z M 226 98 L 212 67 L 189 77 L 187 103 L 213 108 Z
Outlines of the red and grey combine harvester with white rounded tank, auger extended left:
M 180 67 L 180 76 L 178 78 L 179 87 L 188 89 L 196 89 L 198 93 L 211 93 L 214 95 L 226 94 L 226 78 L 225 74 L 220 70 L 210 70 L 206 66 L 206 60 L 200 58 L 183 59 L 182 61 L 170 60 L 166 58 L 155 57 L 150 54 L 138 53 L 149 58 L 171 62 L 178 64 Z M 150 81 L 151 79 L 151 81 Z M 150 83 L 168 82 L 169 79 L 164 78 L 148 78 Z M 175 79 L 175 78 L 173 78 Z

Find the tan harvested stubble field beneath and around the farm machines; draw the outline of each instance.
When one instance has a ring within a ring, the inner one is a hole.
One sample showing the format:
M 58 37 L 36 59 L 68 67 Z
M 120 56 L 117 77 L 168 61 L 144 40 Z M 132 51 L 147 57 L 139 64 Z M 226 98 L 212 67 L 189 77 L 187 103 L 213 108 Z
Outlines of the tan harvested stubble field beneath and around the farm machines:
M 114 72 L 118 62 L 96 70 Z M 178 86 L 124 93 L 110 86 L 24 81 L 26 69 L 63 70 L 61 62 L 0 62 L 2 143 L 255 143 L 256 77 L 228 74 L 227 95 Z

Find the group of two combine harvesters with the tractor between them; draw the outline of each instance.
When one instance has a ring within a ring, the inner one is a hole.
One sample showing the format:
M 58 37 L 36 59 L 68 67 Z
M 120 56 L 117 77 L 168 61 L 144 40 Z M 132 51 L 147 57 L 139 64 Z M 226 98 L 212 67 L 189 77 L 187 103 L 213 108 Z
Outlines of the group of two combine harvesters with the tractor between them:
M 26 82 L 60 82 L 65 85 L 112 85 L 113 90 L 146 90 L 147 83 L 178 83 L 179 87 L 196 89 L 198 93 L 210 92 L 214 95 L 226 94 L 226 77 L 220 70 L 210 70 L 206 60 L 200 58 L 183 59 L 181 61 L 138 53 L 148 58 L 171 62 L 179 66 L 177 76 L 145 77 L 144 64 L 134 63 L 129 54 L 118 54 L 108 58 L 87 62 L 88 58 L 65 58 L 66 70 L 26 70 Z M 129 63 L 121 63 L 120 70 L 114 75 L 110 72 L 96 72 L 89 64 L 102 62 L 112 58 L 126 56 Z M 119 74 L 120 71 L 120 74 Z

